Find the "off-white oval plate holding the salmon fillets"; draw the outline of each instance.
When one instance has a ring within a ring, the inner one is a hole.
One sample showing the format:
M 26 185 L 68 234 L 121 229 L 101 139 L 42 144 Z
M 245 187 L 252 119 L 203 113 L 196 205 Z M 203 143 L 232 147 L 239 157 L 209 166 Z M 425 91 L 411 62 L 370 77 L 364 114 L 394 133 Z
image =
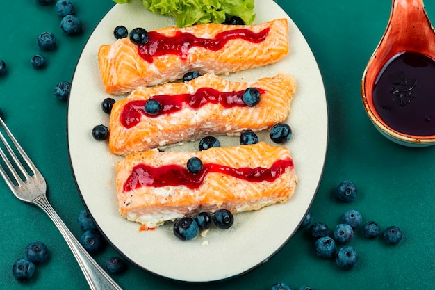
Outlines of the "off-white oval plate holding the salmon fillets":
M 117 250 L 141 268 L 174 280 L 206 282 L 241 275 L 267 261 L 293 236 L 308 211 L 320 183 L 325 163 L 328 115 L 325 90 L 318 65 L 295 23 L 272 0 L 256 1 L 255 23 L 285 17 L 290 24 L 290 53 L 279 63 L 231 74 L 233 81 L 253 81 L 286 72 L 295 76 L 298 90 L 293 98 L 288 124 L 293 138 L 286 144 L 295 161 L 299 182 L 285 204 L 236 214 L 226 231 L 213 229 L 205 237 L 180 241 L 172 234 L 172 223 L 154 231 L 140 232 L 138 223 L 121 218 L 117 210 L 115 163 L 107 142 L 92 138 L 92 128 L 108 125 L 101 110 L 106 94 L 101 83 L 97 51 L 115 41 L 113 29 L 126 26 L 147 30 L 174 25 L 172 18 L 150 13 L 140 1 L 115 5 L 90 36 L 77 64 L 68 105 L 69 157 L 76 184 L 85 206 L 106 238 Z M 121 97 L 114 97 L 120 99 Z M 259 134 L 270 143 L 267 132 Z M 218 137 L 222 146 L 238 145 L 237 137 Z M 170 148 L 189 150 L 197 142 Z

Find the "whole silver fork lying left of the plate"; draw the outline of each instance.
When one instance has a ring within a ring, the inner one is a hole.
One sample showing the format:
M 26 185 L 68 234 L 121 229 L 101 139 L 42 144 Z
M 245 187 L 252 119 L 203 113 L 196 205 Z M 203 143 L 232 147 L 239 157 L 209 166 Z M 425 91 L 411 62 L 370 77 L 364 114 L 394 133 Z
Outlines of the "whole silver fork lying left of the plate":
M 106 271 L 104 271 L 97 262 L 90 257 L 88 252 L 86 252 L 79 241 L 77 241 L 72 232 L 69 231 L 58 214 L 56 214 L 56 211 L 54 211 L 53 207 L 51 207 L 51 204 L 47 200 L 47 184 L 44 177 L 35 167 L 31 159 L 28 158 L 26 152 L 24 152 L 13 134 L 10 133 L 8 127 L 1 118 L 0 125 L 3 127 L 6 134 L 8 134 L 10 141 L 13 143 L 16 151 L 21 155 L 21 159 L 25 163 L 25 165 L 23 165 L 22 161 L 19 160 L 17 154 L 15 154 L 14 150 L 9 145 L 8 140 L 6 140 L 5 136 L 0 131 L 1 143 L 6 147 L 10 158 L 13 159 L 13 162 L 10 161 L 5 150 L 0 148 L 1 159 L 3 159 L 3 162 L 6 164 L 9 171 L 6 172 L 5 168 L 0 164 L 0 174 L 3 179 L 5 179 L 10 190 L 19 200 L 35 204 L 45 211 L 45 213 L 51 218 L 56 227 L 58 227 L 60 233 L 63 235 L 65 241 L 67 241 L 69 248 L 72 250 L 74 257 L 79 263 L 80 268 L 88 281 L 90 289 L 121 289 L 121 287 L 110 278 Z

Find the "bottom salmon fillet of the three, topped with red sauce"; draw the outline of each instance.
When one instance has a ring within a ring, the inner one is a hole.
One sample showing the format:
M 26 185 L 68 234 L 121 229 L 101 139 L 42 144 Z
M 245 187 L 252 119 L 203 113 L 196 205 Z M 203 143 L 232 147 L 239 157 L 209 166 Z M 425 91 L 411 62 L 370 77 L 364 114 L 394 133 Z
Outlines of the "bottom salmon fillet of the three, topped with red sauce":
M 194 156 L 203 163 L 195 174 L 186 169 Z M 200 211 L 237 213 L 286 202 L 297 184 L 289 150 L 263 142 L 199 152 L 138 152 L 119 161 L 116 173 L 120 215 L 145 229 Z

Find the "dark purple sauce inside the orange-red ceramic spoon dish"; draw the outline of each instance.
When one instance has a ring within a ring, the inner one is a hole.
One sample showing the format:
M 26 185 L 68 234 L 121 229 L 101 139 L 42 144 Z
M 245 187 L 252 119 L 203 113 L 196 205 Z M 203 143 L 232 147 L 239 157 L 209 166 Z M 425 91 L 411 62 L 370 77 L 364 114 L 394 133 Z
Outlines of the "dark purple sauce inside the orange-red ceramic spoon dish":
M 373 90 L 377 113 L 404 134 L 435 134 L 435 62 L 422 54 L 394 56 L 379 74 Z

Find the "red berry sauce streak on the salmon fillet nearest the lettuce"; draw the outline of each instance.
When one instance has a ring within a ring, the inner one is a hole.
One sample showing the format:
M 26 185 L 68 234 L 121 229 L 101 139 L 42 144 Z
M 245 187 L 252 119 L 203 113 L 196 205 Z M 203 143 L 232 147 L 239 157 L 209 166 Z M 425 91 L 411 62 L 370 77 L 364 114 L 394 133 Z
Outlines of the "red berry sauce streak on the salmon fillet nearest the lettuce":
M 138 46 L 138 54 L 145 61 L 152 63 L 156 56 L 174 54 L 182 59 L 186 59 L 189 49 L 192 47 L 204 47 L 205 49 L 218 51 L 227 44 L 229 40 L 242 39 L 253 43 L 265 40 L 269 28 L 263 29 L 259 33 L 254 33 L 249 29 L 233 29 L 218 33 L 215 38 L 197 38 L 192 33 L 177 31 L 174 36 L 165 36 L 156 31 L 149 31 L 149 40 Z

